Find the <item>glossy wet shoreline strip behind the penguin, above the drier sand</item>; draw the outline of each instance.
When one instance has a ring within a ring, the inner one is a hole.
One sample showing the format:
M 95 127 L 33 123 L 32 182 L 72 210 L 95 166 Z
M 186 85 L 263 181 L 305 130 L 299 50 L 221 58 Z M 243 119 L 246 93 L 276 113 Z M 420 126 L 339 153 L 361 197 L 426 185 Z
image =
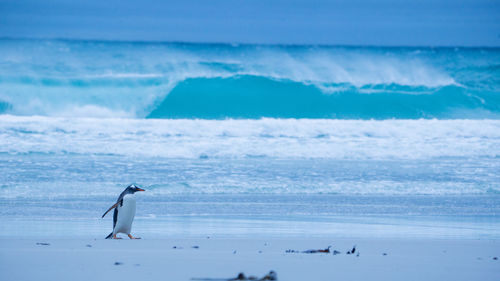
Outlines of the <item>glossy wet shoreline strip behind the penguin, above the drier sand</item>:
M 101 239 L 115 198 L 1 199 L 0 239 Z M 148 195 L 132 229 L 149 239 L 500 239 L 500 196 Z

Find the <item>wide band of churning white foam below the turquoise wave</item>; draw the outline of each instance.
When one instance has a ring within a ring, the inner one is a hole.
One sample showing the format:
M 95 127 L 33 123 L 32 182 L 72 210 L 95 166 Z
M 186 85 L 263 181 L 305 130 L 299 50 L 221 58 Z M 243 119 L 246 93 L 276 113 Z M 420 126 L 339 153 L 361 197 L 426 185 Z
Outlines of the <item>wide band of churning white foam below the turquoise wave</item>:
M 0 153 L 167 158 L 500 157 L 497 120 L 143 120 L 0 116 Z

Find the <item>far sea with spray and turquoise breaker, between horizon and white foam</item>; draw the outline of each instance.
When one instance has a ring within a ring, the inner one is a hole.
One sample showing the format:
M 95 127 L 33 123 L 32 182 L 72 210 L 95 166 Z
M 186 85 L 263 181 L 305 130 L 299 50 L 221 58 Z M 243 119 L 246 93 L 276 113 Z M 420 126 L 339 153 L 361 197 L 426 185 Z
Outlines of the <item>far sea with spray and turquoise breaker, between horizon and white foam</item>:
M 498 118 L 500 50 L 0 40 L 0 114 Z

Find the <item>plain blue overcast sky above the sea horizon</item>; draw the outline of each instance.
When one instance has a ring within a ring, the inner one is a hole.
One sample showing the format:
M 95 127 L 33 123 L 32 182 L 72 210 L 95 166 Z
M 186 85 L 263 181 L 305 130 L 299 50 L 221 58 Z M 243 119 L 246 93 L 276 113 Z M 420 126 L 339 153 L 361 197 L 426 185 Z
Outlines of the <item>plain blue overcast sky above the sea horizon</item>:
M 500 46 L 500 0 L 0 0 L 0 37 Z

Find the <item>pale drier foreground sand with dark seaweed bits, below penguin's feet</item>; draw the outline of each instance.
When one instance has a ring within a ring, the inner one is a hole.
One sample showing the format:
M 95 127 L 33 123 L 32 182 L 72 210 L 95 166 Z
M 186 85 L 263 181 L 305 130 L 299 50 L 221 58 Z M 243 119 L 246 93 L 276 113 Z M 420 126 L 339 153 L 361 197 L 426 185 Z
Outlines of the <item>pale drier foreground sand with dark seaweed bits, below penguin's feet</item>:
M 48 244 L 48 245 L 47 245 Z M 346 254 L 356 245 L 354 254 Z M 324 249 L 330 253 L 303 253 Z M 292 250 L 292 251 L 290 251 Z M 333 254 L 337 250 L 339 254 Z M 2 239 L 1 280 L 497 280 L 498 240 Z

